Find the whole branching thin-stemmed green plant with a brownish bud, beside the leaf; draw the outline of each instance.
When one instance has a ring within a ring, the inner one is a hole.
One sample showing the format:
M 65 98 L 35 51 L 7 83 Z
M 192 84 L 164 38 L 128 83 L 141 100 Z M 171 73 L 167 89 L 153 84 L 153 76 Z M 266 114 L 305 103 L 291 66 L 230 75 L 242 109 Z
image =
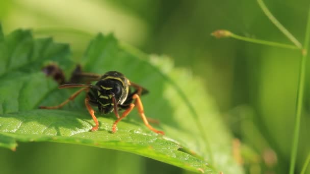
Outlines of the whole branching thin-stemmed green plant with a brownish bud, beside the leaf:
M 306 76 L 306 59 L 307 59 L 307 51 L 310 42 L 310 7 L 308 10 L 307 16 L 307 24 L 305 28 L 305 35 L 304 35 L 304 44 L 301 45 L 300 42 L 271 14 L 268 10 L 266 5 L 262 0 L 257 0 L 257 3 L 266 14 L 266 16 L 270 19 L 270 21 L 282 32 L 294 45 L 287 45 L 282 43 L 264 41 L 264 40 L 257 40 L 247 37 L 238 36 L 226 30 L 219 30 L 212 33 L 213 36 L 217 38 L 222 37 L 231 37 L 247 42 L 253 42 L 258 44 L 264 44 L 269 46 L 277 46 L 282 48 L 289 48 L 289 49 L 299 49 L 301 52 L 301 61 L 300 61 L 300 68 L 299 68 L 299 77 L 298 77 L 298 90 L 297 90 L 297 99 L 296 99 L 296 120 L 295 120 L 295 129 L 294 129 L 294 136 L 293 136 L 293 144 L 292 144 L 292 151 L 291 151 L 291 162 L 290 162 L 290 173 L 294 173 L 295 163 L 296 163 L 296 156 L 297 156 L 297 148 L 298 148 L 298 141 L 299 141 L 299 130 L 300 130 L 300 121 L 301 121 L 301 114 L 302 114 L 302 107 L 303 107 L 303 97 L 304 97 L 304 85 L 305 85 L 305 76 Z M 305 162 L 305 166 L 307 165 L 308 158 Z M 304 172 L 304 168 L 302 172 Z

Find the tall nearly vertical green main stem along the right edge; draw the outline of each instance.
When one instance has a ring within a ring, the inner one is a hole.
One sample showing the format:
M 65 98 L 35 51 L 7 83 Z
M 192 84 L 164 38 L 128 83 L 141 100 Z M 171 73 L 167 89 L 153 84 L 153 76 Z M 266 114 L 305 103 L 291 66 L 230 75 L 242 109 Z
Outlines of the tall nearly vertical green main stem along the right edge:
M 296 101 L 296 121 L 295 121 L 294 137 L 293 137 L 293 146 L 292 146 L 292 151 L 291 151 L 290 174 L 294 173 L 296 156 L 297 156 L 300 119 L 301 119 L 301 112 L 302 112 L 302 105 L 303 105 L 306 57 L 307 57 L 307 49 L 309 46 L 309 37 L 310 37 L 310 7 L 309 7 L 309 12 L 308 12 L 308 21 L 307 21 L 307 26 L 306 26 L 305 40 L 304 40 L 304 49 L 303 49 L 304 51 L 302 53 L 302 57 L 300 61 L 300 72 L 299 72 L 299 82 L 298 82 L 297 101 Z

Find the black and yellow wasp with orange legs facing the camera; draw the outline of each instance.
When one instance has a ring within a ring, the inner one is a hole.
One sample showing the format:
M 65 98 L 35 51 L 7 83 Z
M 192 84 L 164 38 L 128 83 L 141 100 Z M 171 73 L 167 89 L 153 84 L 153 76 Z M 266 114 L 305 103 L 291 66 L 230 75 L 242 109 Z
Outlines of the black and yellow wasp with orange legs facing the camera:
M 66 88 L 81 88 L 81 89 L 73 93 L 67 100 L 65 100 L 64 102 L 62 102 L 57 106 L 40 106 L 40 108 L 42 109 L 61 108 L 69 101 L 74 100 L 75 97 L 81 94 L 83 91 L 85 91 L 86 92 L 86 98 L 84 100 L 85 106 L 95 122 L 95 126 L 91 129 L 91 131 L 97 131 L 99 127 L 98 120 L 95 116 L 94 109 L 91 107 L 91 105 L 97 106 L 98 111 L 101 114 L 106 114 L 114 111 L 117 120 L 114 122 L 112 126 L 112 133 L 116 132 L 117 123 L 120 122 L 123 118 L 127 117 L 127 115 L 136 106 L 138 108 L 139 115 L 143 120 L 144 124 L 151 131 L 164 135 L 163 131 L 159 131 L 153 128 L 148 123 L 148 120 L 149 121 L 151 120 L 146 118 L 143 110 L 143 105 L 140 99 L 140 96 L 143 94 L 147 94 L 148 91 L 142 86 L 130 81 L 122 73 L 117 71 L 109 71 L 104 75 L 99 75 L 99 74 L 82 72 L 81 67 L 79 66 L 72 73 L 70 81 L 76 81 L 77 78 L 87 79 L 86 81 L 88 81 L 88 83 L 90 83 L 91 81 L 97 81 L 97 82 L 95 83 L 95 85 L 81 84 L 81 83 L 62 84 L 58 87 L 59 89 L 66 89 Z M 132 88 L 134 89 L 134 91 L 132 90 Z M 119 116 L 118 113 L 119 110 L 124 110 L 121 114 L 121 117 Z

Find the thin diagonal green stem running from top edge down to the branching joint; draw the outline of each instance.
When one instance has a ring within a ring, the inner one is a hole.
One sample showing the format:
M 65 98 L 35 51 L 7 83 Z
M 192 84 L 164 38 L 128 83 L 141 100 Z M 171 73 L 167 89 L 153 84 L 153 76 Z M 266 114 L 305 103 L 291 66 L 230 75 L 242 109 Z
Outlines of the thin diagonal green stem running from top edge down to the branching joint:
M 291 40 L 298 48 L 302 48 L 301 43 L 270 13 L 263 0 L 257 0 L 261 9 L 266 14 L 266 16 L 270 19 L 270 21 L 278 27 L 278 29 Z

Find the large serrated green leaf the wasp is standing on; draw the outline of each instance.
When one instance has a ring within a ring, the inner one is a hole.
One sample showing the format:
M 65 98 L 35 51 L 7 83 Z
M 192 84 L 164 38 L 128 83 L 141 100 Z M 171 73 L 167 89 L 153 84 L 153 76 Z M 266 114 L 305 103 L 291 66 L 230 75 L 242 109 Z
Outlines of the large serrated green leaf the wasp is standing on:
M 80 64 L 87 72 L 120 71 L 150 91 L 142 97 L 147 117 L 161 121 L 161 136 L 147 129 L 133 111 L 111 133 L 115 116 L 96 114 L 99 130 L 84 106 L 85 95 L 59 110 L 57 105 L 74 90 L 58 90 L 40 69 L 49 62 L 66 74 L 74 68 L 67 45 L 33 39 L 18 30 L 0 41 L 0 146 L 14 149 L 16 141 L 52 141 L 115 149 L 153 158 L 192 171 L 241 173 L 231 156 L 231 135 L 204 86 L 167 57 L 145 55 L 120 44 L 112 35 L 92 40 Z

